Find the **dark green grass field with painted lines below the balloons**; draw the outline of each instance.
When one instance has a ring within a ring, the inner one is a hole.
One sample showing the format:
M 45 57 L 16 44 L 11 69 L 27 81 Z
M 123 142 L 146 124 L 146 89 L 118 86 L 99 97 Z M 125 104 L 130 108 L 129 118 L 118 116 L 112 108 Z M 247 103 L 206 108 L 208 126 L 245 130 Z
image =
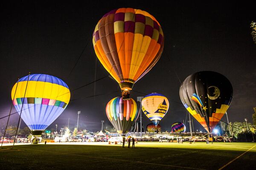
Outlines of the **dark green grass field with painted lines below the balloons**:
M 139 142 L 135 147 L 100 142 L 5 146 L 0 170 L 256 170 L 255 143 Z

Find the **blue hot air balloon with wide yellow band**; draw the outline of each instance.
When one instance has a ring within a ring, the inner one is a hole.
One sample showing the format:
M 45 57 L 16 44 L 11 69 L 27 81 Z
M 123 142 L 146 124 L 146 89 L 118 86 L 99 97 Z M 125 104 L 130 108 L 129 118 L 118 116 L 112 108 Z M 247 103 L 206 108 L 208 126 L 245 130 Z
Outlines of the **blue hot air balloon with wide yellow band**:
M 70 90 L 67 84 L 57 77 L 31 74 L 15 83 L 12 99 L 13 105 L 17 112 L 21 113 L 21 118 L 32 134 L 41 135 L 67 107 Z

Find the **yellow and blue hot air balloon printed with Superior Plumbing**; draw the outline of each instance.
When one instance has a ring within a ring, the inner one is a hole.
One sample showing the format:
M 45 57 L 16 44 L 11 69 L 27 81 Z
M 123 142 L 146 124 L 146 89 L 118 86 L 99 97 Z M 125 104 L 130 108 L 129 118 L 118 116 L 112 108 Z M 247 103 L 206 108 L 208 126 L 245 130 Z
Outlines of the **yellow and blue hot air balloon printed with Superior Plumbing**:
M 157 126 L 168 111 L 169 101 L 162 94 L 151 93 L 142 99 L 141 105 L 145 115 Z

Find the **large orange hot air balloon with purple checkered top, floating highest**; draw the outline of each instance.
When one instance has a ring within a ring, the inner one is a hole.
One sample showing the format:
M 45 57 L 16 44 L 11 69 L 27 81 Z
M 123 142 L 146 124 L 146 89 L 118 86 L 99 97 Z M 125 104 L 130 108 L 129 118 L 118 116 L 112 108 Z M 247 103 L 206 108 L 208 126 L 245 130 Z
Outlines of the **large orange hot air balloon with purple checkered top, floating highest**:
M 119 83 L 123 99 L 159 60 L 163 31 L 146 11 L 119 8 L 105 14 L 93 31 L 93 47 L 104 68 Z

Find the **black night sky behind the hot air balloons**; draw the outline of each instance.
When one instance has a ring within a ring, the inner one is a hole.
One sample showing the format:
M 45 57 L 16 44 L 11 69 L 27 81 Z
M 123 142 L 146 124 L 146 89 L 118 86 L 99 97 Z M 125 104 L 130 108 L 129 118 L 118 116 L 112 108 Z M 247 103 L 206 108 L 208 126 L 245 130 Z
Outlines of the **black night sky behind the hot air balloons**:
M 186 109 L 179 96 L 180 81 L 192 73 L 206 70 L 223 74 L 233 85 L 229 120 L 247 118 L 252 122 L 253 106 L 256 106 L 256 45 L 250 35 L 250 22 L 256 20 L 256 15 L 249 1 L 88 0 L 64 3 L 45 0 L 2 4 L 0 117 L 9 113 L 12 86 L 28 72 L 61 78 L 71 91 L 93 82 L 95 68 L 96 79 L 108 75 L 99 62 L 95 67 L 92 34 L 105 13 L 121 7 L 148 11 L 163 28 L 163 54 L 154 68 L 134 85 L 134 91 L 158 92 L 169 99 L 169 111 L 160 122 L 164 130 L 186 119 Z M 119 90 L 118 84 L 108 77 L 96 82 L 96 95 L 116 90 Z M 81 121 L 105 120 L 105 125 L 110 124 L 105 106 L 120 92 L 86 98 L 93 95 L 94 84 L 71 92 L 72 101 L 58 119 L 76 120 L 77 111 L 81 110 Z M 134 99 L 142 95 L 131 92 Z M 226 117 L 222 119 L 226 122 Z M 143 115 L 144 127 L 148 123 L 150 120 Z M 198 123 L 195 128 L 202 129 Z

